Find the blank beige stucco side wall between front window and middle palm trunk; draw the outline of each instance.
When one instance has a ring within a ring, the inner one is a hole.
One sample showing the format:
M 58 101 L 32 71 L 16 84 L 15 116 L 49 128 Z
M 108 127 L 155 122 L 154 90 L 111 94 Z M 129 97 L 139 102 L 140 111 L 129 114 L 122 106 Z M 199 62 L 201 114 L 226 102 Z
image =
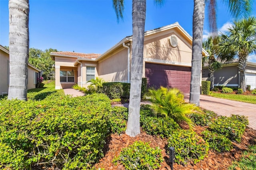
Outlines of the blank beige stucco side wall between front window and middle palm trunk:
M 98 61 L 98 76 L 104 81 L 127 82 L 128 49 L 119 47 Z

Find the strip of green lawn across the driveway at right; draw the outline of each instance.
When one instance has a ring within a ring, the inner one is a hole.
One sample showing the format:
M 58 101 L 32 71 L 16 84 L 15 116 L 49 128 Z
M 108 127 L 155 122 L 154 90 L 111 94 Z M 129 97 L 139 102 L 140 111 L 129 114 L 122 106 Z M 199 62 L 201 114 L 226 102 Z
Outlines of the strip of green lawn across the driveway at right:
M 218 97 L 222 99 L 229 99 L 234 101 L 242 101 L 246 103 L 256 104 L 256 96 L 252 95 L 236 95 L 236 94 L 225 94 L 225 93 L 210 93 L 212 97 Z

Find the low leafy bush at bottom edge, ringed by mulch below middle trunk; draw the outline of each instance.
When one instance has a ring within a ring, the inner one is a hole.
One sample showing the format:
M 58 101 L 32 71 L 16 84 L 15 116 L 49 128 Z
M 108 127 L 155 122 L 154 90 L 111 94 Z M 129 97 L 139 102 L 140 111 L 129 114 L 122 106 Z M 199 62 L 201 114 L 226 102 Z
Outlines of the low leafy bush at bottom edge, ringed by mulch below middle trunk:
M 159 146 L 151 148 L 148 142 L 135 141 L 113 161 L 121 162 L 126 170 L 153 170 L 160 168 L 163 158 Z

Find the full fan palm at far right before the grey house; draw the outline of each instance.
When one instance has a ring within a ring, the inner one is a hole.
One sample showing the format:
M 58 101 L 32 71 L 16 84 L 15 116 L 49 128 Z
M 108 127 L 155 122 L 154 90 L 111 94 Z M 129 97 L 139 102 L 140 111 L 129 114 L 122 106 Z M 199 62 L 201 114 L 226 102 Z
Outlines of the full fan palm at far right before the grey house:
M 249 17 L 234 22 L 226 35 L 221 34 L 218 53 L 222 61 L 233 61 L 238 58 L 240 71 L 240 88 L 246 91 L 245 68 L 250 53 L 256 53 L 256 18 Z

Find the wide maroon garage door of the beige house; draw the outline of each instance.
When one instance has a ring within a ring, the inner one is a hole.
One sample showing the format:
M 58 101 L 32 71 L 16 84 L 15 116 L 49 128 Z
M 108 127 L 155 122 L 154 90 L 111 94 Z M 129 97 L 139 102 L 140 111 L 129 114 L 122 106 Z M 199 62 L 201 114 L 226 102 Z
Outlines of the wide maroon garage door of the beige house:
M 191 67 L 146 63 L 148 87 L 176 87 L 183 93 L 190 92 Z

